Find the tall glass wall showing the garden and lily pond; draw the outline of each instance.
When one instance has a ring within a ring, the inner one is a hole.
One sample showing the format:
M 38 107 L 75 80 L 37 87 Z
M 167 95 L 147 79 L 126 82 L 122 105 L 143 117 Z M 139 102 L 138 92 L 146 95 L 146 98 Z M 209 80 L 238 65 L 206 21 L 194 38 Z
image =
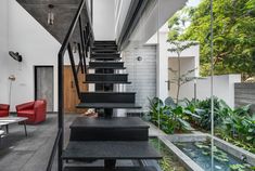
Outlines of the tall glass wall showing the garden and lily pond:
M 253 170 L 254 2 L 150 3 L 123 55 L 160 167 Z

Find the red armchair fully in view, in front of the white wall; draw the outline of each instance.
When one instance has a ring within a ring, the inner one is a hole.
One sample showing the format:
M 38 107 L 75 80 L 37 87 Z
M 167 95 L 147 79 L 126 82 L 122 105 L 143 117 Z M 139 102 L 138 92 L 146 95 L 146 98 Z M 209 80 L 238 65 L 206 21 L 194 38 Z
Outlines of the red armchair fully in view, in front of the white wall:
M 38 100 L 16 106 L 17 117 L 26 117 L 26 123 L 36 124 L 46 120 L 47 102 Z

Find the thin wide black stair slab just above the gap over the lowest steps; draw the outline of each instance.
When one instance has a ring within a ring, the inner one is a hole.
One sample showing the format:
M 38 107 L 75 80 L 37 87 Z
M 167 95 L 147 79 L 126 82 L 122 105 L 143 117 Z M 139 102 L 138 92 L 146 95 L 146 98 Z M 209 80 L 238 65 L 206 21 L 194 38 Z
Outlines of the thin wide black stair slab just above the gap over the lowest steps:
M 77 108 L 141 108 L 133 103 L 80 103 Z

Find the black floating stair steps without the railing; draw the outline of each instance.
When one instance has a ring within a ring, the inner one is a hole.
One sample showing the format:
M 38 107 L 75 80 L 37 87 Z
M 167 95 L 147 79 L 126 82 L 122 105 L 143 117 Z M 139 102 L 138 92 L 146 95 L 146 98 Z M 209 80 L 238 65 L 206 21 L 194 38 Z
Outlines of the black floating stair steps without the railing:
M 95 41 L 85 83 L 94 83 L 95 91 L 81 92 L 79 108 L 103 109 L 104 117 L 78 117 L 71 124 L 69 144 L 63 159 L 103 159 L 104 168 L 68 167 L 76 170 L 154 171 L 153 167 L 117 168 L 116 160 L 161 159 L 149 143 L 149 126 L 138 117 L 113 117 L 114 108 L 140 108 L 136 105 L 135 92 L 114 92 L 114 84 L 130 83 L 127 74 L 116 74 L 125 69 L 114 41 Z M 110 57 L 111 56 L 111 57 Z M 112 58 L 114 56 L 114 58 Z

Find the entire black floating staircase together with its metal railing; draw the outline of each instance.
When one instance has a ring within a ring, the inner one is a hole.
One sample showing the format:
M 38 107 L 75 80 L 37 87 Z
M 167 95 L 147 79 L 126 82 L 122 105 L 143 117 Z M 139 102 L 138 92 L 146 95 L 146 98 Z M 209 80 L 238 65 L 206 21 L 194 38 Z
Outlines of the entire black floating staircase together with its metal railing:
M 116 84 L 131 83 L 115 41 L 94 41 L 92 15 L 87 11 L 87 1 L 81 0 L 58 55 L 59 114 L 58 135 L 47 166 L 51 171 L 58 152 L 58 171 L 156 171 L 154 167 L 118 167 L 117 160 L 161 159 L 162 156 L 149 143 L 149 126 L 138 117 L 114 117 L 115 108 L 141 108 L 136 105 L 135 92 L 115 92 Z M 82 18 L 81 14 L 86 15 Z M 91 15 L 91 16 L 90 16 Z M 84 21 L 85 19 L 85 21 Z M 82 23 L 86 23 L 84 25 Z M 79 64 L 76 67 L 72 41 L 75 28 L 79 27 Z M 94 108 L 99 117 L 77 117 L 69 126 L 69 142 L 64 148 L 64 56 L 68 52 L 75 88 L 80 103 L 78 108 Z M 90 54 L 89 66 L 86 58 Z M 89 73 L 88 73 L 89 70 Z M 79 80 L 78 73 L 86 74 Z M 92 71 L 92 73 L 91 73 Z M 94 91 L 80 92 L 79 81 L 93 83 Z M 58 150 L 56 150 L 58 149 Z M 104 166 L 89 167 L 78 161 L 104 160 Z M 68 161 L 68 162 L 64 162 Z M 72 162 L 72 163 L 69 163 Z M 139 162 L 143 163 L 143 162 Z

